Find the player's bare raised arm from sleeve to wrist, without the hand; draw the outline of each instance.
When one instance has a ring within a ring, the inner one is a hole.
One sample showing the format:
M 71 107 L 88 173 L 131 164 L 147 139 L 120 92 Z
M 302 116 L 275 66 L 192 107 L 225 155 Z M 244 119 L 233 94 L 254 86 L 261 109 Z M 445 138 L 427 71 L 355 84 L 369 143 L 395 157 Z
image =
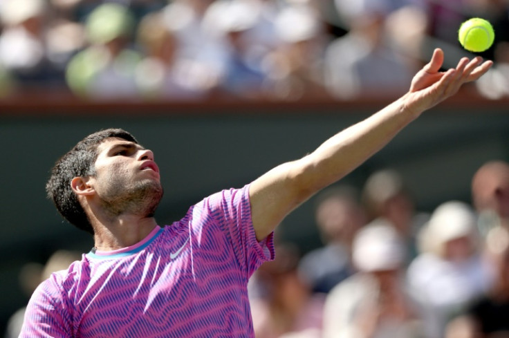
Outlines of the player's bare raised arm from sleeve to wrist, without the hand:
M 275 167 L 250 189 L 257 237 L 267 236 L 295 207 L 340 180 L 416 118 L 405 96 L 353 126 L 333 135 L 313 153 Z

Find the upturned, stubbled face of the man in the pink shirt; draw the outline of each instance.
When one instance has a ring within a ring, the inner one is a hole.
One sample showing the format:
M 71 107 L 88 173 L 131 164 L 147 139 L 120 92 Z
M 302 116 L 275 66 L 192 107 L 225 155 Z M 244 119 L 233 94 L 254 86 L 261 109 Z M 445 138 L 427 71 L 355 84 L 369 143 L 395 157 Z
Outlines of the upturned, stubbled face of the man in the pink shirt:
M 99 144 L 91 182 L 104 209 L 113 216 L 153 216 L 163 197 L 154 153 L 121 138 Z

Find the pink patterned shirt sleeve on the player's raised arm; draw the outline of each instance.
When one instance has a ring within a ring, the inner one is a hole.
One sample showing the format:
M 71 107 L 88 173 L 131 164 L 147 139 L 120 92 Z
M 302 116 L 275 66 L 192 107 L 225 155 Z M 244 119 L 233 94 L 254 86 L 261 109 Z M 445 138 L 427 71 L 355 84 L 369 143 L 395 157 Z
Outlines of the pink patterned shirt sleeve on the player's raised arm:
M 232 244 L 241 268 L 250 277 L 265 261 L 274 259 L 273 234 L 257 241 L 251 218 L 249 185 L 223 190 L 207 198 L 214 220 Z

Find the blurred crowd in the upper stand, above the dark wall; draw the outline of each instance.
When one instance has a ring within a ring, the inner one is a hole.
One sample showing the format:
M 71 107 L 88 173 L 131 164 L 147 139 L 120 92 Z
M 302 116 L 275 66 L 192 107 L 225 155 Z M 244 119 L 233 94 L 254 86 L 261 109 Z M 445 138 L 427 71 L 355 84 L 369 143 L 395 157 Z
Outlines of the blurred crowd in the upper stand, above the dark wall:
M 494 25 L 476 84 L 509 94 L 507 0 L 1 0 L 0 97 L 343 100 L 404 93 L 436 47 L 465 55 L 469 17 Z

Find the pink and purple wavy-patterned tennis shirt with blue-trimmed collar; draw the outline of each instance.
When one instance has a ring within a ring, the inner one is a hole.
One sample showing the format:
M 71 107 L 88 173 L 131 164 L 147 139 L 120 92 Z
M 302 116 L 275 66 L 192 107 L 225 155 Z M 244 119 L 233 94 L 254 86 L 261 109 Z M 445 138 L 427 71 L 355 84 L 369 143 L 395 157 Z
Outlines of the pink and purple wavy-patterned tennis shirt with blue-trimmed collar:
M 20 337 L 254 337 L 248 279 L 274 245 L 254 235 L 248 189 L 55 272 L 30 299 Z

